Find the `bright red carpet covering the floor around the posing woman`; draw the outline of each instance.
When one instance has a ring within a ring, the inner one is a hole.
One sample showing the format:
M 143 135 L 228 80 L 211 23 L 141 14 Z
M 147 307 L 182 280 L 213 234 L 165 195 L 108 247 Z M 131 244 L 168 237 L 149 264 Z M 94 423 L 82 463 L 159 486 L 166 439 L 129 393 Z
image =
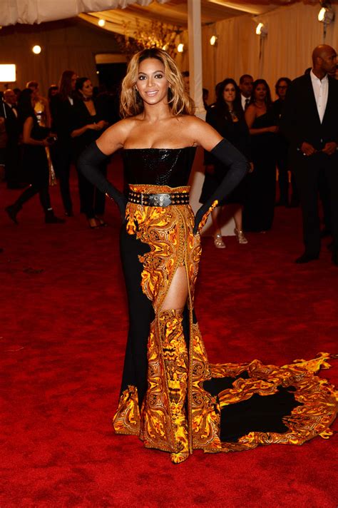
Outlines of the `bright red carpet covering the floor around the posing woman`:
M 120 167 L 117 156 L 111 171 Z M 0 193 L 3 210 L 19 191 L 2 183 Z M 61 216 L 58 188 L 51 197 Z M 211 362 L 338 352 L 338 268 L 328 240 L 319 261 L 293 263 L 299 215 L 277 208 L 273 230 L 248 245 L 203 239 L 196 312 Z M 178 466 L 114 435 L 128 327 L 117 209 L 107 203 L 108 228 L 89 230 L 78 206 L 65 225 L 45 225 L 34 198 L 18 219 L 0 211 L 1 508 L 337 507 L 337 435 L 197 451 Z M 337 362 L 321 376 L 338 385 Z

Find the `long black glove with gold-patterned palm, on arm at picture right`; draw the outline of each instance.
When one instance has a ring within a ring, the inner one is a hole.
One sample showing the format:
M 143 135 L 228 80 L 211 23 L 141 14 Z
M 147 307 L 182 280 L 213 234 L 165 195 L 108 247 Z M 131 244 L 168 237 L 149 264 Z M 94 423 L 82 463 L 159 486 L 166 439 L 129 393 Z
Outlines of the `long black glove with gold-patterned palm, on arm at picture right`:
M 225 138 L 217 143 L 210 153 L 227 166 L 229 171 L 208 201 L 198 208 L 195 215 L 194 235 L 203 228 L 213 208 L 237 187 L 250 169 L 249 161 L 245 156 Z

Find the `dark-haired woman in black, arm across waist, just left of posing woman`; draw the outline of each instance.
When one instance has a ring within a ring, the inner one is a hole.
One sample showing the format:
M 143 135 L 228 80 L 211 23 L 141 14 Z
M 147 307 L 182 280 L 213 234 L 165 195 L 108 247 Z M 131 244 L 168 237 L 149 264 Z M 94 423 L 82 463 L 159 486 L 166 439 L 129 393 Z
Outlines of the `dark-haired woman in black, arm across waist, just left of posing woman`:
M 73 138 L 73 152 L 78 170 L 78 157 L 86 146 L 95 141 L 108 126 L 106 114 L 93 100 L 93 85 L 88 78 L 76 80 L 78 101 L 74 103 L 71 120 L 71 138 Z M 106 176 L 107 163 L 101 164 L 101 172 Z M 86 213 L 90 228 L 106 225 L 103 220 L 105 195 L 98 191 L 92 183 L 78 171 L 78 191 L 80 193 L 81 212 Z

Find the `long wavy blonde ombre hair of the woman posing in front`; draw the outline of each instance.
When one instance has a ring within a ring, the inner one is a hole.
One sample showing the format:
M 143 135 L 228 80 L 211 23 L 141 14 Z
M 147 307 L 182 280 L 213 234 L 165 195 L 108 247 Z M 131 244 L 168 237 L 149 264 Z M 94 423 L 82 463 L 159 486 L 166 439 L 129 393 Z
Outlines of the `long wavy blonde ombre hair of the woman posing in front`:
M 178 66 L 170 55 L 163 49 L 143 49 L 130 60 L 126 77 L 122 81 L 120 113 L 123 118 L 135 116 L 143 111 L 143 100 L 135 89 L 138 81 L 138 66 L 146 59 L 157 59 L 162 62 L 165 77 L 168 80 L 168 106 L 174 116 L 193 115 L 195 104 L 185 91 L 183 77 Z

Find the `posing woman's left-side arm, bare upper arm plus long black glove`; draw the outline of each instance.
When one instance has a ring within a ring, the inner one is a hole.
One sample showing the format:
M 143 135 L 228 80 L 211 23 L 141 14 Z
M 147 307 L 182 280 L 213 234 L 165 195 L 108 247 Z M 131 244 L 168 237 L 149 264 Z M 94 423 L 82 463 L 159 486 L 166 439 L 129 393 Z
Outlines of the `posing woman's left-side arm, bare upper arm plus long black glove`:
M 78 158 L 78 168 L 81 173 L 93 183 L 102 193 L 112 198 L 124 218 L 126 210 L 126 196 L 118 191 L 113 184 L 101 173 L 99 167 L 107 160 L 111 153 L 122 148 L 126 141 L 126 121 L 120 121 L 108 128 L 97 141 L 89 145 Z

